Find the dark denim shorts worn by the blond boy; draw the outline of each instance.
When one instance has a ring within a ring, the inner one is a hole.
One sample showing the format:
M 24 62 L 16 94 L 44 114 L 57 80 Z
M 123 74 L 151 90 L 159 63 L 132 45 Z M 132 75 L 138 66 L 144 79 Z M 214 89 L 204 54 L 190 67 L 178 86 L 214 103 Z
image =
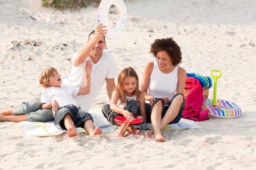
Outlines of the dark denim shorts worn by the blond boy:
M 92 119 L 92 116 L 90 113 L 85 112 L 84 110 L 81 110 L 79 108 L 74 108 L 74 107 L 63 107 L 59 108 L 57 111 L 57 114 L 55 114 L 55 123 L 61 126 L 64 130 L 67 130 L 65 127 L 63 117 L 67 114 L 70 113 L 72 115 L 72 120 L 74 122 L 74 125 L 78 128 L 84 128 L 84 121 L 88 119 Z M 93 119 L 92 119 L 93 121 Z

